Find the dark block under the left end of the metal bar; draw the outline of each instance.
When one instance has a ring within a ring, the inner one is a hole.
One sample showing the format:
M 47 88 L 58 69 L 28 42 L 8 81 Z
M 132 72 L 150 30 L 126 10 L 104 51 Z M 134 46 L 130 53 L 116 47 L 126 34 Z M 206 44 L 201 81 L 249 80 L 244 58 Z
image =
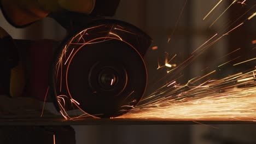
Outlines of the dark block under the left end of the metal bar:
M 75 131 L 70 126 L 3 126 L 0 127 L 0 143 L 75 144 Z

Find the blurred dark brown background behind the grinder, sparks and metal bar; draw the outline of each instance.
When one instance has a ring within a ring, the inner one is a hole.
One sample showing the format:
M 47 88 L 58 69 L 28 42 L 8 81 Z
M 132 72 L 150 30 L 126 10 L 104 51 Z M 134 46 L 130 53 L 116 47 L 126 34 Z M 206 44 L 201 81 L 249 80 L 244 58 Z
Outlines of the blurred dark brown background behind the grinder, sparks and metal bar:
M 141 28 L 152 37 L 152 47 L 149 48 L 145 61 L 149 73 L 149 85 L 146 95 L 160 87 L 166 81 L 158 82 L 166 75 L 166 70 L 156 70 L 158 63 L 165 64 L 166 56 L 177 58 L 175 64 L 183 62 L 197 47 L 205 43 L 216 33 L 234 28 L 252 13 L 244 15 L 248 9 L 255 5 L 254 0 L 237 1 L 226 11 L 213 26 L 209 27 L 223 11 L 232 3 L 223 1 L 206 20 L 203 17 L 219 2 L 219 0 L 121 0 L 119 8 L 113 17 L 123 20 Z M 240 2 L 240 3 L 238 3 Z M 185 4 L 186 3 L 186 4 Z M 185 5 L 184 5 L 185 4 Z M 255 11 L 255 8 L 254 8 Z M 253 12 L 254 12 L 253 11 Z M 181 14 L 182 12 L 182 14 Z M 252 11 L 251 11 L 252 12 Z M 14 39 L 54 39 L 61 41 L 66 31 L 53 19 L 46 18 L 25 29 L 11 27 L 1 15 L 1 26 Z M 236 21 L 237 20 L 237 21 Z M 232 24 L 232 22 L 234 22 Z M 246 21 L 236 31 L 226 35 L 216 44 L 207 49 L 200 57 L 191 63 L 181 74 L 184 75 L 178 83 L 185 83 L 189 79 L 201 76 L 216 69 L 219 64 L 229 61 L 234 55 L 219 59 L 226 53 L 241 48 L 238 56 L 242 59 L 255 57 L 256 21 Z M 224 33 L 223 33 L 224 32 Z M 168 54 L 167 54 L 168 53 Z M 169 57 L 170 58 L 170 57 Z M 213 77 L 220 78 L 237 73 L 238 70 L 255 66 L 255 61 L 233 69 L 225 67 L 219 69 Z M 207 68 L 208 67 L 208 68 Z M 204 70 L 206 69 L 206 70 Z M 150 91 L 149 91 L 150 89 Z M 256 125 L 74 125 L 77 144 L 80 143 L 256 143 Z

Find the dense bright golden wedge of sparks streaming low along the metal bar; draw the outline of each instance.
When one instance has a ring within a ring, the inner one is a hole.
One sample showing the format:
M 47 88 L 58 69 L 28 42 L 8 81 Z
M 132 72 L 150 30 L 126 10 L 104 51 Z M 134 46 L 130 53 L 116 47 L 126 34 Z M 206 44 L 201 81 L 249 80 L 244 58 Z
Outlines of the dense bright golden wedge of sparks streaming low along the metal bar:
M 149 96 L 158 99 L 151 98 L 146 104 L 136 106 L 119 118 L 256 121 L 256 79 L 252 77 L 255 72 L 253 70 L 220 80 L 205 81 L 203 85 L 195 87 L 188 82 L 186 85 L 162 88 Z M 187 88 L 189 90 L 185 90 Z

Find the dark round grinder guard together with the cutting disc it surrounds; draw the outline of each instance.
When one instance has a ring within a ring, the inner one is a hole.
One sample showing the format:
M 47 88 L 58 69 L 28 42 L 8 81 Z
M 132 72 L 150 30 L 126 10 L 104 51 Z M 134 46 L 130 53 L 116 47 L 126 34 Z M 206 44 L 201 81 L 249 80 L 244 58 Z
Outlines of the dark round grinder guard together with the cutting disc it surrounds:
M 151 41 L 129 23 L 88 23 L 56 52 L 51 73 L 56 109 L 66 119 L 116 117 L 132 109 L 146 89 L 143 56 Z M 82 113 L 67 114 L 76 109 Z

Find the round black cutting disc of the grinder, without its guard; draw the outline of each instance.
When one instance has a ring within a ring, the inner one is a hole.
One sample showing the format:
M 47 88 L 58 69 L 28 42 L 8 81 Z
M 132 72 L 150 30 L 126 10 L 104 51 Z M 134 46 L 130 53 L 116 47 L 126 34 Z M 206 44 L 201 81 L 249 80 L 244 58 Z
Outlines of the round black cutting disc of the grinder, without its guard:
M 70 94 L 84 111 L 114 117 L 141 99 L 147 72 L 135 49 L 112 39 L 78 50 L 70 61 L 67 83 Z

